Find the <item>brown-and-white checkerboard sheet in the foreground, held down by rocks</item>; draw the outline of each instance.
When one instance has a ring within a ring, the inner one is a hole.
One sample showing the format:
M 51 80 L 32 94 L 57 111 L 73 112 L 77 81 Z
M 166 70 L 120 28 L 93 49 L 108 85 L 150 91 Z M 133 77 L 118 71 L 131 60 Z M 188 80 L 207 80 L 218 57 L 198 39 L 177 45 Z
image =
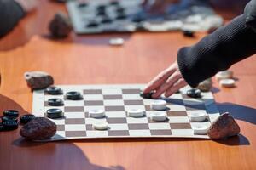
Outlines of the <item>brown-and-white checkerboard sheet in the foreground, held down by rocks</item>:
M 209 139 L 207 135 L 197 135 L 193 127 L 198 124 L 209 126 L 218 116 L 211 92 L 202 93 L 201 99 L 189 98 L 186 91 L 173 94 L 167 101 L 166 122 L 154 122 L 150 113 L 154 112 L 150 104 L 153 99 L 143 99 L 140 92 L 143 84 L 131 85 L 76 85 L 58 86 L 63 90 L 61 95 L 49 95 L 44 91 L 35 91 L 33 94 L 33 113 L 36 116 L 45 116 L 46 111 L 56 108 L 47 105 L 47 100 L 59 98 L 64 105 L 57 108 L 64 111 L 64 117 L 51 119 L 57 124 L 57 133 L 49 140 L 63 139 L 102 139 L 102 138 L 201 138 Z M 69 91 L 78 91 L 84 99 L 68 100 L 65 94 Z M 103 109 L 106 117 L 91 118 L 88 112 L 92 109 Z M 126 114 L 130 109 L 143 109 L 146 116 L 129 117 Z M 204 122 L 190 122 L 189 113 L 206 112 Z M 108 130 L 95 130 L 93 122 L 108 122 Z

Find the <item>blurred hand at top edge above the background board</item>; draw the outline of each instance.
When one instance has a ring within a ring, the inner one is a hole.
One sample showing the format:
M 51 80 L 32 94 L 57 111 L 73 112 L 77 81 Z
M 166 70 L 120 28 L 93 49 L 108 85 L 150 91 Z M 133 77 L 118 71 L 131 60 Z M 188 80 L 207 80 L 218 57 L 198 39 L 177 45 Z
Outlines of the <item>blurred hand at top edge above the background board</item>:
M 144 0 L 143 8 L 149 13 L 162 13 L 169 4 L 177 2 L 179 0 Z

